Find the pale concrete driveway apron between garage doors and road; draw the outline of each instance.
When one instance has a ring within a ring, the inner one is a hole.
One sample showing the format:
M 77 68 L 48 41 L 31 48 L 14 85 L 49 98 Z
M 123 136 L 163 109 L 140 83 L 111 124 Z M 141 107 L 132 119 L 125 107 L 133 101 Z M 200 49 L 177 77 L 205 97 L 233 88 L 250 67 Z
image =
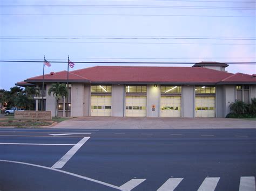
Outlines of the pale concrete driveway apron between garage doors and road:
M 228 118 L 77 117 L 53 128 L 66 129 L 256 129 L 256 121 Z

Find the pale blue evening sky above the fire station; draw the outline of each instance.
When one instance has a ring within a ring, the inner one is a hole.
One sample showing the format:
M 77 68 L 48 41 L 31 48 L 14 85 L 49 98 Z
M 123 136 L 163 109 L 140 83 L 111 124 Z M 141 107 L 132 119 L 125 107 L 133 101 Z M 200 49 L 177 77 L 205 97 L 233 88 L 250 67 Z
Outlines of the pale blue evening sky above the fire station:
M 255 0 L 0 0 L 0 60 L 255 62 Z M 186 66 L 76 63 L 91 66 Z M 52 63 L 45 73 L 66 70 Z M 231 73 L 256 74 L 255 65 Z M 43 74 L 43 63 L 0 62 L 0 89 Z

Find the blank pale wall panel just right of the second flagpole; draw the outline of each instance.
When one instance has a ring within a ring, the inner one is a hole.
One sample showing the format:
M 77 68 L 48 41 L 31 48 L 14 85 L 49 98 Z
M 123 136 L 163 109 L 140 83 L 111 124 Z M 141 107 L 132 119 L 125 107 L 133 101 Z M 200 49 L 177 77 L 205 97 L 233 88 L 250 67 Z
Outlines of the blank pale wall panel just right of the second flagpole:
M 71 87 L 71 117 L 81 117 L 84 111 L 84 84 L 72 83 Z

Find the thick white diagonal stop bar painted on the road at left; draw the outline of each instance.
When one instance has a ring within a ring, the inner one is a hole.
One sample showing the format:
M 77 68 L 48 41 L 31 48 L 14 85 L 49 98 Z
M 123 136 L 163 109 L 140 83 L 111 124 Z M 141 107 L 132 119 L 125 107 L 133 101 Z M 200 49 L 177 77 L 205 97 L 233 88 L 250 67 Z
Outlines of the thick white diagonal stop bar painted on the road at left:
M 75 146 L 73 146 L 61 159 L 59 159 L 52 168 L 62 168 L 66 162 L 73 157 L 73 155 L 78 151 L 78 149 L 87 142 L 90 137 L 84 137 Z

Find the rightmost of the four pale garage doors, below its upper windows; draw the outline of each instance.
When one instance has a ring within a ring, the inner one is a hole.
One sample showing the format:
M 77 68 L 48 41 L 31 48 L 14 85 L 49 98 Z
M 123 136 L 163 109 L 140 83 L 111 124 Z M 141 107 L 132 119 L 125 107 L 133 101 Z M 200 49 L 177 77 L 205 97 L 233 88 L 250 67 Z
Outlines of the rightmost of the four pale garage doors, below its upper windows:
M 196 117 L 215 117 L 215 97 L 196 97 Z

